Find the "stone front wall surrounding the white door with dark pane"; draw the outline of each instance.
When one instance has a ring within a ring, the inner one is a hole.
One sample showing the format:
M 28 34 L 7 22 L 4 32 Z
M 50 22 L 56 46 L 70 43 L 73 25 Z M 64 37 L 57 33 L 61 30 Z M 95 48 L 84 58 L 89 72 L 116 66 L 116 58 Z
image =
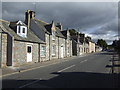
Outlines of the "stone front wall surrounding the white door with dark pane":
M 37 43 L 14 41 L 13 66 L 27 64 L 27 45 L 32 45 L 32 62 L 38 62 L 39 45 Z

